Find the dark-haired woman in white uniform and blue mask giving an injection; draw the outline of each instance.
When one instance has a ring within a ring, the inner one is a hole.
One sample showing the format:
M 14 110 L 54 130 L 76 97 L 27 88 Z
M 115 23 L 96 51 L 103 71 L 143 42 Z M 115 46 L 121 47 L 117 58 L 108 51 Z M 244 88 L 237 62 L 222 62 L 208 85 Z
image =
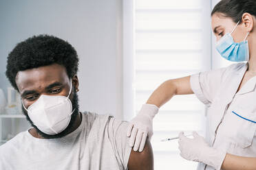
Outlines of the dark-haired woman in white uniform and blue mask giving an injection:
M 240 63 L 162 83 L 131 121 L 127 136 L 134 150 L 142 151 L 158 108 L 174 95 L 195 93 L 209 107 L 210 138 L 180 133 L 180 155 L 200 162 L 198 169 L 256 169 L 256 1 L 222 0 L 211 16 L 217 51 Z

